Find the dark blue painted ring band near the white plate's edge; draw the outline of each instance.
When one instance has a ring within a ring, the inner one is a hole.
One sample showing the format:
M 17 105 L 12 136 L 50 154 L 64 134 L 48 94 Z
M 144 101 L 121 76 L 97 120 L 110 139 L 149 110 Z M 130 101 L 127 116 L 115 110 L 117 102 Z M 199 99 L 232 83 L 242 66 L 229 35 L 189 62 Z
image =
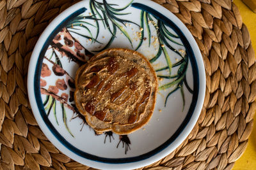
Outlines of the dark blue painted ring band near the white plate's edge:
M 63 146 L 68 148 L 68 150 L 75 153 L 76 155 L 79 155 L 80 157 L 83 157 L 84 159 L 89 159 L 89 160 L 102 162 L 102 163 L 109 163 L 109 164 L 124 164 L 124 163 L 138 162 L 140 160 L 145 160 L 145 159 L 148 159 L 149 157 L 152 157 L 153 155 L 156 155 L 157 153 L 164 150 L 164 148 L 171 145 L 173 143 L 173 141 L 175 141 L 175 139 L 178 138 L 180 133 L 184 130 L 184 128 L 188 124 L 189 120 L 191 119 L 191 117 L 193 115 L 193 112 L 195 110 L 195 106 L 196 106 L 197 101 L 198 101 L 198 94 L 199 94 L 199 87 L 200 87 L 198 66 L 197 66 L 197 63 L 196 63 L 195 54 L 194 54 L 191 46 L 189 45 L 188 39 L 186 39 L 183 32 L 180 31 L 179 27 L 177 25 L 175 25 L 172 22 L 172 20 L 168 19 L 167 17 L 165 17 L 164 15 L 159 13 L 158 11 L 154 10 L 153 8 L 151 8 L 149 6 L 146 6 L 145 4 L 141 4 L 141 3 L 132 3 L 131 6 L 134 7 L 134 8 L 138 8 L 139 10 L 147 11 L 148 13 L 151 13 L 155 17 L 161 19 L 164 22 L 164 24 L 168 25 L 170 28 L 173 29 L 173 31 L 176 32 L 176 34 L 179 35 L 180 40 L 182 41 L 183 45 L 186 48 L 186 51 L 188 52 L 189 60 L 191 62 L 191 66 L 192 66 L 192 72 L 193 72 L 193 97 L 192 97 L 192 102 L 191 102 L 191 105 L 189 107 L 189 111 L 186 115 L 186 118 L 184 118 L 180 127 L 177 129 L 177 131 L 167 141 L 165 141 L 162 145 L 158 146 L 154 150 L 152 150 L 150 152 L 147 152 L 147 153 L 144 153 L 142 155 L 136 156 L 136 157 L 127 157 L 127 158 L 118 158 L 118 159 L 109 159 L 109 158 L 106 158 L 106 157 L 98 157 L 98 156 L 92 155 L 90 153 L 83 152 L 82 150 L 79 150 L 75 146 L 68 143 L 68 141 L 65 138 L 63 138 L 63 136 L 61 136 L 61 134 L 54 128 L 54 126 L 51 124 L 51 121 L 48 119 L 47 114 L 45 113 L 44 105 L 43 105 L 41 94 L 40 94 L 40 74 L 41 74 L 41 69 L 42 69 L 42 62 L 44 60 L 44 54 L 47 50 L 47 47 L 50 44 L 50 40 L 53 39 L 54 36 L 59 31 L 61 31 L 63 26 L 65 24 L 67 24 L 67 22 L 70 19 L 76 17 L 77 15 L 80 15 L 81 13 L 83 13 L 84 11 L 87 10 L 84 7 L 80 8 L 79 10 L 75 11 L 74 13 L 72 13 L 71 15 L 66 17 L 65 20 L 63 20 L 59 25 L 57 25 L 56 28 L 54 29 L 54 31 L 51 32 L 50 36 L 45 41 L 44 46 L 42 46 L 42 50 L 40 51 L 40 55 L 39 55 L 37 63 L 36 63 L 33 85 L 34 85 L 34 89 L 35 89 L 36 104 L 38 106 L 40 116 L 44 120 L 44 122 L 47 125 L 49 131 L 51 131 L 51 133 L 55 136 L 56 139 L 58 139 L 58 141 Z

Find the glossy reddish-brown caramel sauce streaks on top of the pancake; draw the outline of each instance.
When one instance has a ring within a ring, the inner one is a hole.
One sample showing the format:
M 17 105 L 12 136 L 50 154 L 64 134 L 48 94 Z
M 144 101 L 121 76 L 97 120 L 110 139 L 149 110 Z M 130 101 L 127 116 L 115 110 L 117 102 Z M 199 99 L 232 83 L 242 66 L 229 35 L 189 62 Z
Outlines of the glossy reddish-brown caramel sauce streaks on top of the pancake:
M 99 104 L 99 100 L 95 99 L 95 97 L 97 96 L 97 94 L 99 93 L 100 90 L 102 90 L 102 96 L 103 96 L 106 92 L 108 92 L 108 90 L 112 87 L 112 84 L 113 84 L 113 80 L 106 83 L 106 81 L 108 81 L 109 77 L 100 81 L 100 78 L 99 78 L 97 72 L 99 72 L 103 67 L 104 66 L 93 66 L 90 69 L 90 73 L 92 73 L 92 72 L 96 72 L 96 73 L 93 73 L 93 76 L 92 76 L 90 82 L 88 83 L 88 85 L 86 85 L 86 89 L 92 89 L 93 87 L 97 87 L 97 89 L 96 89 L 95 94 L 93 95 L 93 99 L 91 99 L 84 105 L 84 110 L 88 111 L 88 113 L 90 113 L 91 115 L 94 115 L 95 117 L 99 118 L 99 120 L 102 120 L 102 121 L 104 121 L 104 119 L 106 118 L 106 115 L 109 113 L 109 110 L 107 109 L 108 111 L 104 111 L 106 108 L 103 108 L 100 111 L 95 111 Z M 108 64 L 107 64 L 108 72 L 110 74 L 114 74 L 118 70 L 118 68 L 119 68 L 118 62 L 116 61 L 115 58 L 111 57 L 108 60 Z M 131 96 L 133 95 L 133 93 L 136 91 L 136 89 L 138 87 L 136 86 L 136 83 L 134 83 L 133 81 L 130 81 L 130 79 L 133 76 L 135 76 L 137 73 L 138 73 L 138 69 L 136 67 L 132 67 L 132 69 L 130 69 L 126 73 L 118 75 L 118 78 L 121 78 L 122 76 L 126 76 L 127 80 L 125 81 L 125 87 L 123 87 L 122 89 L 111 94 L 111 99 L 110 99 L 111 103 L 114 103 L 116 101 L 116 99 L 121 97 L 122 94 L 124 94 L 124 92 L 127 89 L 131 89 L 132 94 L 125 97 L 125 99 L 123 101 L 121 101 L 120 104 L 124 104 L 126 101 L 128 101 L 131 98 Z M 104 85 L 105 83 L 106 83 L 106 85 Z M 146 85 L 145 85 L 146 90 L 141 98 L 141 101 L 136 104 L 134 112 L 132 113 L 132 115 L 130 115 L 129 120 L 128 120 L 129 124 L 134 124 L 136 122 L 136 120 L 138 119 L 138 115 L 140 115 L 140 113 L 138 113 L 140 106 L 143 103 L 145 103 L 145 101 L 147 101 L 150 96 L 151 88 L 148 88 L 148 80 L 145 80 L 145 83 L 146 83 Z

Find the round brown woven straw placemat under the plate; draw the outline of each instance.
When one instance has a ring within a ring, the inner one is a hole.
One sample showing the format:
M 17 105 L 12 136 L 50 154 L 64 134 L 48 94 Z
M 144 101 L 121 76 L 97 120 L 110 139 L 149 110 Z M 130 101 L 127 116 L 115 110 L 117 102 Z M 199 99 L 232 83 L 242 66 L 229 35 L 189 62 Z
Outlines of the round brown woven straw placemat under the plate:
M 147 169 L 231 169 L 253 127 L 256 65 L 249 32 L 229 0 L 156 0 L 175 13 L 202 52 L 204 108 L 188 138 Z M 0 1 L 0 169 L 89 169 L 60 153 L 36 124 L 26 78 L 49 22 L 74 1 Z M 142 168 L 141 168 L 142 169 Z

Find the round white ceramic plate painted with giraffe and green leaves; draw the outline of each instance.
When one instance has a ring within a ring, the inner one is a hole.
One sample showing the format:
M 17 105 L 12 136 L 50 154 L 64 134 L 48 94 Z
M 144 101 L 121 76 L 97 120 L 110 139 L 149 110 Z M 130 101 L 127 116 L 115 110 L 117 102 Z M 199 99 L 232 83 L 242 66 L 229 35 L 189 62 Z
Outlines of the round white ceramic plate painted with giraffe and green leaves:
M 150 60 L 159 76 L 157 103 L 140 130 L 97 136 L 76 110 L 74 76 L 93 54 L 117 47 Z M 188 29 L 163 6 L 86 0 L 63 11 L 38 39 L 28 92 L 38 125 L 65 155 L 99 169 L 133 169 L 162 159 L 193 129 L 204 101 L 204 62 Z

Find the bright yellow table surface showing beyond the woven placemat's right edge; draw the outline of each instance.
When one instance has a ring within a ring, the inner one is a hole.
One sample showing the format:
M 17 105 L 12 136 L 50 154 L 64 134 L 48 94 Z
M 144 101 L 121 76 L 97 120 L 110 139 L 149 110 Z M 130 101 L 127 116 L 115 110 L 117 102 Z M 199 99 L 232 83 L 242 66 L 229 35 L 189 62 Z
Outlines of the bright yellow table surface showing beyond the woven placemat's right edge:
M 253 13 L 241 0 L 235 0 L 234 3 L 239 8 L 243 22 L 250 32 L 253 48 L 256 51 L 256 13 Z M 256 117 L 254 117 L 253 123 L 254 127 L 248 141 L 248 146 L 240 159 L 236 161 L 233 170 L 256 169 Z

